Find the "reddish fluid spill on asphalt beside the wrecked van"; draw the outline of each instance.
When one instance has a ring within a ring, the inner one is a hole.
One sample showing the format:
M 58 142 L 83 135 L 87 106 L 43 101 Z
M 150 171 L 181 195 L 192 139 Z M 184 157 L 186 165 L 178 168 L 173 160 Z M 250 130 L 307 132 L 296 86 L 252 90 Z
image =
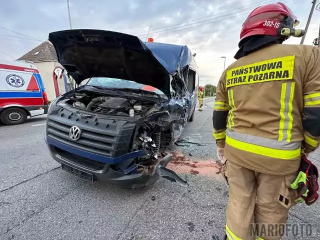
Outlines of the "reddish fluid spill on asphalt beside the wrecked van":
M 205 161 L 191 160 L 180 151 L 172 151 L 172 161 L 167 164 L 167 168 L 176 173 L 190 173 L 193 175 L 215 176 L 221 172 L 221 163 L 213 159 Z

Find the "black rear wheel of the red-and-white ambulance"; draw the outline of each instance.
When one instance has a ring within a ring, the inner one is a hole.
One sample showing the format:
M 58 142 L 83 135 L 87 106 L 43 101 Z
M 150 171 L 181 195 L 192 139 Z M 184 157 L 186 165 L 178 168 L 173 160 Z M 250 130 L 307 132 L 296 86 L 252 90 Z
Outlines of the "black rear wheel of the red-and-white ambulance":
M 25 122 L 26 112 L 18 107 L 9 107 L 0 114 L 1 121 L 6 125 L 16 125 Z

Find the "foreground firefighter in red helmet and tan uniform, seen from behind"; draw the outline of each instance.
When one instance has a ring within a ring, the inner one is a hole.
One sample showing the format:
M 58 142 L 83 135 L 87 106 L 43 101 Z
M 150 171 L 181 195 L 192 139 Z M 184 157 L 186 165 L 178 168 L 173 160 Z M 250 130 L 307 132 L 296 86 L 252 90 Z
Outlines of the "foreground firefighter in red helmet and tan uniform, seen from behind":
M 297 203 L 301 156 L 319 145 L 320 48 L 282 44 L 304 34 L 298 23 L 281 2 L 255 8 L 216 87 L 213 135 L 229 187 L 225 239 L 280 239 L 275 227 Z

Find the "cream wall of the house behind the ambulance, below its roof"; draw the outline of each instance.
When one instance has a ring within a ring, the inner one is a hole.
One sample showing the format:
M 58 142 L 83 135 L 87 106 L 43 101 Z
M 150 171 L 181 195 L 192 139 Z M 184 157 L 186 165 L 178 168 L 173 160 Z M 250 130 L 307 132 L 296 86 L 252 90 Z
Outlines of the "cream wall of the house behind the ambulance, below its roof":
M 56 66 L 60 66 L 61 68 L 63 67 L 61 66 L 60 63 L 56 61 L 35 62 L 35 65 L 38 68 L 39 73 L 41 75 L 41 78 L 45 87 L 45 92 L 48 96 L 48 100 L 53 100 L 56 97 L 55 90 L 54 90 L 54 83 L 53 83 L 53 75 L 52 75 L 53 69 Z M 64 74 L 66 75 L 66 71 L 64 71 Z M 66 79 L 66 81 L 69 82 L 68 78 Z M 71 81 L 73 83 L 72 78 L 71 78 Z M 58 78 L 58 89 L 59 89 L 60 95 L 68 91 L 68 89 L 66 89 L 66 84 L 64 82 L 63 77 Z

